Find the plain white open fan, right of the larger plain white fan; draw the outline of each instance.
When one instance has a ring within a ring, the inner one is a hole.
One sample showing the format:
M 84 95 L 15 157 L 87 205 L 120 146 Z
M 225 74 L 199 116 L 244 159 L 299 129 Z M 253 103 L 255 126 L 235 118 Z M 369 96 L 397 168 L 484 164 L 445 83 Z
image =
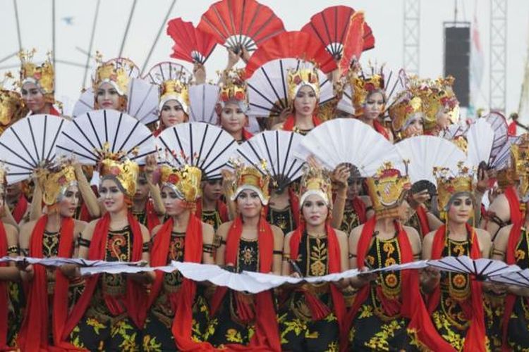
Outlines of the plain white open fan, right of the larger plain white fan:
M 404 160 L 409 161 L 408 175 L 411 182 L 427 180 L 435 184 L 434 167 L 457 170 L 457 164 L 466 156 L 456 145 L 434 136 L 417 136 L 395 144 Z

